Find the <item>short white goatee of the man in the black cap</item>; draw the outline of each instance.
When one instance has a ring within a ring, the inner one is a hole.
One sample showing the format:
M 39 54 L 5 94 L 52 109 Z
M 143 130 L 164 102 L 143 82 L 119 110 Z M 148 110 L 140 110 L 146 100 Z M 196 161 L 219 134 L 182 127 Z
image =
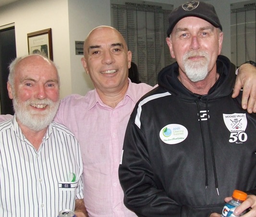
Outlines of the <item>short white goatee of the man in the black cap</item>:
M 189 57 L 205 57 L 198 61 L 192 61 Z M 192 82 L 204 80 L 208 75 L 209 55 L 205 51 L 189 51 L 183 56 L 185 74 Z

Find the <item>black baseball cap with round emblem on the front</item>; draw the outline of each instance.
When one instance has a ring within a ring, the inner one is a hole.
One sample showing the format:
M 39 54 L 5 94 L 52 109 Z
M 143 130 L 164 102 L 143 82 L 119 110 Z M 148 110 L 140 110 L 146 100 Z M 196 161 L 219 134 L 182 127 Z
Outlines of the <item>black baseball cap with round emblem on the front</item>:
M 178 23 L 179 20 L 183 19 L 184 17 L 202 18 L 211 23 L 213 26 L 220 28 L 222 31 L 222 26 L 219 22 L 218 15 L 211 4 L 203 1 L 188 1 L 171 11 L 169 15 L 169 28 L 167 30 L 168 37 L 170 37 L 171 31 L 176 23 Z

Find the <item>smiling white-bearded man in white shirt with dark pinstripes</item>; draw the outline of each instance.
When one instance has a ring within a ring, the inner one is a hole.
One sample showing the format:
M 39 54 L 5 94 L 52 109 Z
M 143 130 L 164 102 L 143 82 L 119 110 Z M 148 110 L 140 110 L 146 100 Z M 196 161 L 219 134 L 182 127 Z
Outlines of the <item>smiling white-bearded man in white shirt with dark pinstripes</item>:
M 9 69 L 15 114 L 0 124 L 0 216 L 57 217 L 66 210 L 87 217 L 78 142 L 52 122 L 60 103 L 54 63 L 34 54 Z

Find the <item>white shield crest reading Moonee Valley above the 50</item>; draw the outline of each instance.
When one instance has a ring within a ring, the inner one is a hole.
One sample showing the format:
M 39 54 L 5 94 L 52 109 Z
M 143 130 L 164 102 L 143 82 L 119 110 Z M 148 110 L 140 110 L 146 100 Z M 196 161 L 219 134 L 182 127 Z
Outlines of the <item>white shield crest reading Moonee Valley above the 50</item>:
M 223 114 L 223 119 L 230 132 L 244 132 L 246 129 L 246 114 Z

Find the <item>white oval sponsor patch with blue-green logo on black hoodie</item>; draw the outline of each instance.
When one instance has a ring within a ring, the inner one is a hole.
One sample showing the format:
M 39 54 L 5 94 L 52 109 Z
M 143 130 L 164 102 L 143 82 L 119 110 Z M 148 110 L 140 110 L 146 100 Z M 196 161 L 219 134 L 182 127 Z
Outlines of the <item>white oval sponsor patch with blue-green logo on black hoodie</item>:
M 177 144 L 188 136 L 187 128 L 179 124 L 164 126 L 159 133 L 159 137 L 166 144 Z

